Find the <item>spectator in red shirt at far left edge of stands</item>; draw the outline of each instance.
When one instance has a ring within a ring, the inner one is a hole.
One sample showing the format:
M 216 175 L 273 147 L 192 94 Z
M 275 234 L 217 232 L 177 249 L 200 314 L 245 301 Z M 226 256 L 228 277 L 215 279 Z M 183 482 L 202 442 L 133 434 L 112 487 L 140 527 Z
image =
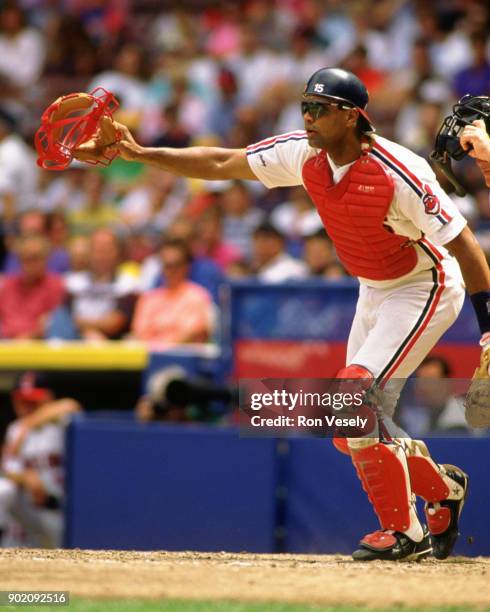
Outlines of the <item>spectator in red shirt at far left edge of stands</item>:
M 0 286 L 0 336 L 43 338 L 49 315 L 64 299 L 61 277 L 47 271 L 49 243 L 39 235 L 17 241 L 20 272 Z

